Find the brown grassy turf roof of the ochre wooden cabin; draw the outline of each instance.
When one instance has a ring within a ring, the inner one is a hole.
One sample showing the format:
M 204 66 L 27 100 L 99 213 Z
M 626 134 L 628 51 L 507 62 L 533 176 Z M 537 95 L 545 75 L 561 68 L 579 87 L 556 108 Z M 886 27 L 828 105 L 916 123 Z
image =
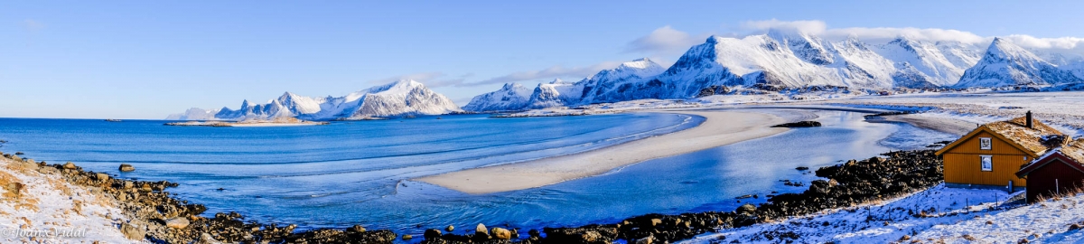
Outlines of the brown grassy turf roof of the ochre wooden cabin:
M 1003 141 L 1009 142 L 1009 144 L 1012 144 L 1014 146 L 1027 152 L 1028 154 L 1031 154 L 1031 156 L 1033 157 L 1043 155 L 1050 149 L 1049 145 L 1044 143 L 1047 141 L 1047 139 L 1051 138 L 1053 136 L 1060 136 L 1062 138 L 1066 138 L 1064 134 L 1061 133 L 1061 131 L 1058 131 L 1054 127 L 1047 126 L 1046 124 L 1038 121 L 1038 119 L 1035 119 L 1033 121 L 1032 128 L 1028 128 L 1027 123 L 1028 123 L 1027 117 L 1019 117 L 1005 121 L 995 121 L 982 125 L 978 129 L 972 130 L 970 133 L 967 133 L 966 136 L 962 137 L 959 140 L 956 140 L 953 143 L 945 145 L 945 147 L 938 151 L 937 154 L 941 155 L 944 154 L 945 152 L 949 152 L 949 150 L 956 147 L 964 141 L 967 141 L 971 137 L 978 134 L 980 131 L 988 131 L 990 133 L 993 133 L 995 137 L 1002 139 Z M 1056 143 L 1054 144 L 1054 146 L 1060 144 L 1062 143 Z

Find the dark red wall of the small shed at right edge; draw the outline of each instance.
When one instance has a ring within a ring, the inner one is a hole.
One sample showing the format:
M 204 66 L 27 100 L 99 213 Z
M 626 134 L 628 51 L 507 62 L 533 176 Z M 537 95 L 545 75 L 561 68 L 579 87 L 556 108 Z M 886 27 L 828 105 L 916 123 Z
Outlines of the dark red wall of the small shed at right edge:
M 1049 164 L 1028 174 L 1028 202 L 1034 203 L 1040 196 L 1050 196 L 1060 189 L 1061 193 L 1084 188 L 1084 172 L 1054 158 Z M 1057 179 L 1057 181 L 1055 181 Z M 1057 187 L 1055 187 L 1057 185 Z

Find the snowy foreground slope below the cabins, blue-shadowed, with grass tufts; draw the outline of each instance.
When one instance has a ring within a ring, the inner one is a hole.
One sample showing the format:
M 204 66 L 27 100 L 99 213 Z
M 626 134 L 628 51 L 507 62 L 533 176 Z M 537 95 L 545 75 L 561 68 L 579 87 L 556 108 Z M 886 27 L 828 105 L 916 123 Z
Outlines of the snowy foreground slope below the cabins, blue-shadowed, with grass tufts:
M 1084 195 L 1031 205 L 1018 196 L 999 190 L 938 185 L 882 203 L 721 230 L 682 243 L 1084 242 L 1084 209 L 1080 208 Z

